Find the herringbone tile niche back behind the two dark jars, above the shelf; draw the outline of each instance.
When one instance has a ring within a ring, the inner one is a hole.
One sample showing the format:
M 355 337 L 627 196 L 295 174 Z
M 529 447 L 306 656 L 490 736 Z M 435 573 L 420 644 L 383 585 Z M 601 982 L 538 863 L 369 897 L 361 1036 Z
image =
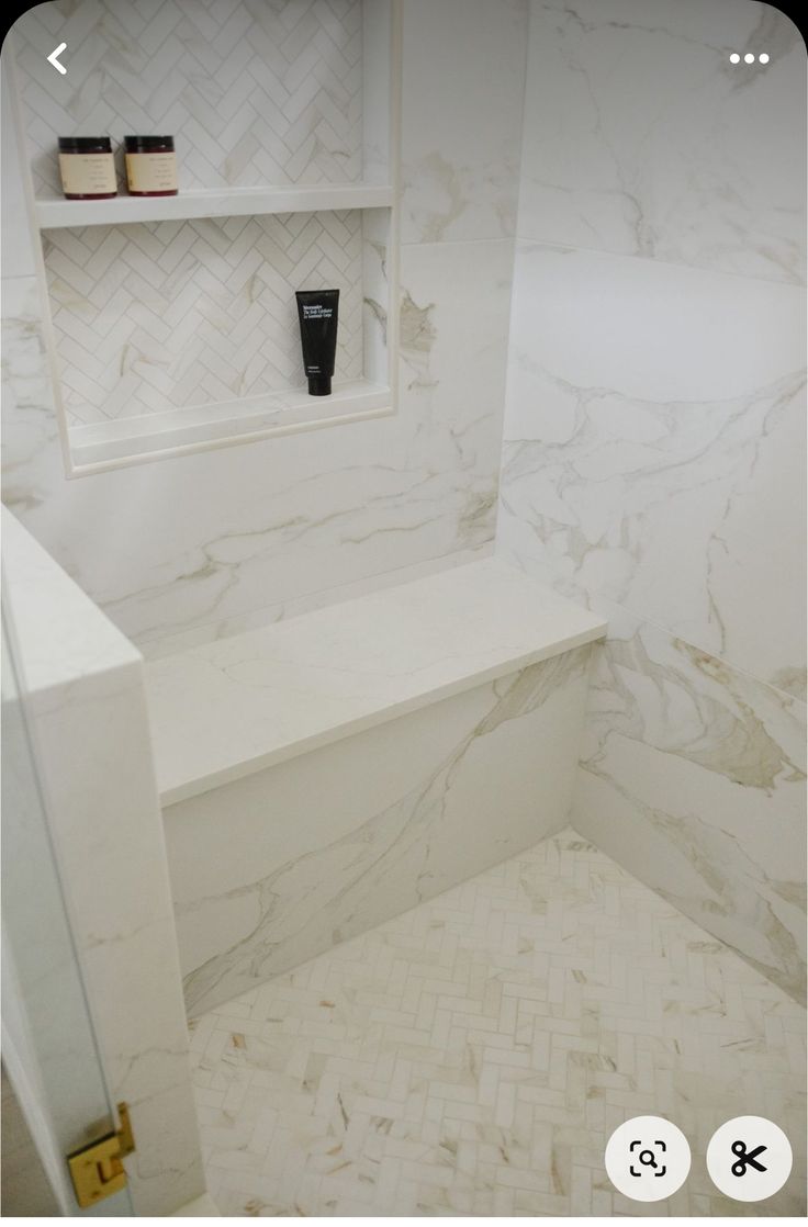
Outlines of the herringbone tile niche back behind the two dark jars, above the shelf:
M 361 0 L 58 0 L 17 22 L 38 196 L 58 136 L 176 136 L 183 188 L 361 179 Z M 66 42 L 61 77 L 45 56 Z

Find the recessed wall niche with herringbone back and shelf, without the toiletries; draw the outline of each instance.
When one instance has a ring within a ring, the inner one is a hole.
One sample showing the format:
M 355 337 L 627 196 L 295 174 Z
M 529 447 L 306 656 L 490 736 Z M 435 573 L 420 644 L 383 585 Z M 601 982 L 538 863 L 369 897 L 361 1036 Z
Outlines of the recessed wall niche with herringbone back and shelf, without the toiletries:
M 394 411 L 398 6 L 79 0 L 17 22 L 69 475 Z M 118 152 L 118 196 L 64 199 L 58 137 L 129 133 L 174 135 L 178 195 L 126 195 Z M 311 398 L 295 291 L 327 287 L 334 393 Z

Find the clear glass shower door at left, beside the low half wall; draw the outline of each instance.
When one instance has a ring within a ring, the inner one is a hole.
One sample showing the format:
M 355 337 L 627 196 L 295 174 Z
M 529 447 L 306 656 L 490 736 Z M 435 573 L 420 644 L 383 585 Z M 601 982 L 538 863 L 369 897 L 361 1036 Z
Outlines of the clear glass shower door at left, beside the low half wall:
M 126 1188 L 82 1209 L 66 1161 L 69 1153 L 114 1133 L 117 1123 L 72 940 L 14 644 L 14 623 L 4 601 L 2 1061 L 60 1212 L 131 1216 Z M 109 1164 L 102 1168 L 104 1177 L 109 1172 Z M 4 1216 L 14 1214 L 12 1191 L 4 1190 Z

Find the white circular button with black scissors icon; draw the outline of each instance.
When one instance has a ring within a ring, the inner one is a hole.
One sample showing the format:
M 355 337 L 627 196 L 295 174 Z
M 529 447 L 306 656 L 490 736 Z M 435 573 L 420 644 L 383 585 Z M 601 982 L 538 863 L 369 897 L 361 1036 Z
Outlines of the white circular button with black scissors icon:
M 763 1201 L 782 1189 L 791 1172 L 791 1144 L 765 1117 L 736 1117 L 710 1139 L 707 1171 L 736 1201 Z

